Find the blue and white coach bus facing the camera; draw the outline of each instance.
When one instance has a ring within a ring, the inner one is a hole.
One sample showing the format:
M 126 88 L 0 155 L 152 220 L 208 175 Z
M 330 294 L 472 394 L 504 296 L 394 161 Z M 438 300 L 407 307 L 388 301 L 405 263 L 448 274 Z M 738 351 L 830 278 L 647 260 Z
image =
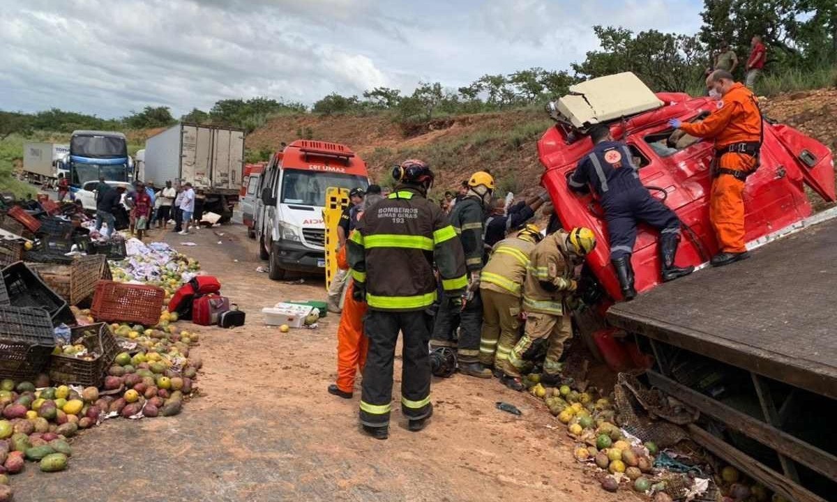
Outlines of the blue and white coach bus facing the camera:
M 69 154 L 61 162 L 69 170 L 71 190 L 100 178 L 110 182 L 131 182 L 134 161 L 128 155 L 128 141 L 115 131 L 73 131 Z

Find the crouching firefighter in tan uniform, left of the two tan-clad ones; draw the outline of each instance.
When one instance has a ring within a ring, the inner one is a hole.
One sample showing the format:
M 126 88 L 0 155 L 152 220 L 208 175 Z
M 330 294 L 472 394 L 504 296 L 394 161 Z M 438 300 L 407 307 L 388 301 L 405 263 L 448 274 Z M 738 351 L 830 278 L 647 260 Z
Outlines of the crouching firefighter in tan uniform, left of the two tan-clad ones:
M 520 373 L 509 364 L 509 352 L 520 339 L 521 289 L 529 266 L 529 254 L 541 242 L 541 230 L 532 223 L 491 249 L 491 258 L 480 274 L 482 337 L 480 362 L 494 366 L 506 387 L 523 389 Z

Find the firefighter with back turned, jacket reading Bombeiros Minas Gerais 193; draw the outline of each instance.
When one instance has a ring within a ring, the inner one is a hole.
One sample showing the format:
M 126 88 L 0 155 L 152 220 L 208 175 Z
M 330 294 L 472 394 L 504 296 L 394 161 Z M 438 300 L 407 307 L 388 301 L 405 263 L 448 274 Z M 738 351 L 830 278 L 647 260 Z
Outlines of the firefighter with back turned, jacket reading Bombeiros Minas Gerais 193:
M 393 169 L 393 177 L 395 192 L 364 213 L 347 243 L 353 298 L 365 299 L 368 308 L 360 422 L 377 439 L 388 437 L 399 331 L 401 410 L 409 430 L 421 430 L 433 414 L 428 344 L 437 300 L 434 264 L 449 310 L 461 310 L 468 286 L 462 244 L 442 209 L 426 198 L 433 172 L 423 161 L 408 160 Z

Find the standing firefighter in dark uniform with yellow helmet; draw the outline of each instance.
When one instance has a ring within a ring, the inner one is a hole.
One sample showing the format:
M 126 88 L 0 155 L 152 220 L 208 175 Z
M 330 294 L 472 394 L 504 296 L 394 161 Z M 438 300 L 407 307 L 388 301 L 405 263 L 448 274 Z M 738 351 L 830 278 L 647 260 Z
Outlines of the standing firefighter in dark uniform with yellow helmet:
M 494 192 L 494 178 L 487 172 L 475 172 L 468 180 L 468 192 L 456 202 L 450 212 L 450 224 L 460 236 L 468 268 L 468 290 L 465 308 L 454 310 L 442 304 L 433 330 L 433 348 L 456 347 L 459 371 L 465 375 L 490 378 L 491 370 L 480 364 L 480 326 L 482 325 L 482 301 L 480 300 L 480 270 L 483 265 L 482 235 L 485 210 L 490 206 Z M 454 340 L 457 320 L 459 341 Z

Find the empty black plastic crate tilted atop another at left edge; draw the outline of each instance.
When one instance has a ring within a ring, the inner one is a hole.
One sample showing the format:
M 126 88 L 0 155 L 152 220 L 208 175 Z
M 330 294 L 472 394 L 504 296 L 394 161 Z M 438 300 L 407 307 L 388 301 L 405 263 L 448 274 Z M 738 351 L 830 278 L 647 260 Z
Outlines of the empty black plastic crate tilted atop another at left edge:
M 74 316 L 67 301 L 44 284 L 38 274 L 23 262 L 3 269 L 3 280 L 13 306 L 44 309 L 49 312 L 54 325 L 62 322 L 74 324 Z

